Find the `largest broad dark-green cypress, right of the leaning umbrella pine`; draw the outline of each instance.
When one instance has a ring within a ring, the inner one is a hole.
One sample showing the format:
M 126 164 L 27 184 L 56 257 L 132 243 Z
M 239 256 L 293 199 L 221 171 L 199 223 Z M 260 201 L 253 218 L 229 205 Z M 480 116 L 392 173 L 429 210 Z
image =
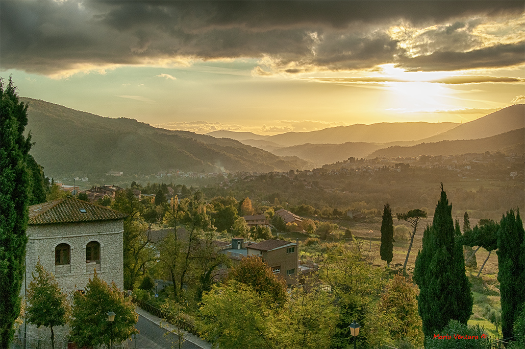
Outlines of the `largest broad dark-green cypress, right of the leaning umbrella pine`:
M 472 294 L 459 236 L 459 225 L 454 228 L 452 205 L 448 204 L 442 183 L 434 220 L 423 233 L 423 249 L 417 254 L 414 269 L 425 336 L 442 330 L 450 320 L 467 324 L 472 313 Z

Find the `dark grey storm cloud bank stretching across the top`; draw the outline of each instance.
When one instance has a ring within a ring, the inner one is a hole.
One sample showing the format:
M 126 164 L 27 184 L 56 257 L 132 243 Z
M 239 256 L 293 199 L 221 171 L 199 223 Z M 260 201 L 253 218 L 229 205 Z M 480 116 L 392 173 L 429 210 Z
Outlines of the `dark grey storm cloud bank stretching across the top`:
M 272 69 L 289 73 L 373 68 L 396 57 L 409 68 L 454 70 L 487 66 L 481 57 L 470 62 L 465 54 L 454 56 L 479 44 L 466 30 L 469 18 L 522 12 L 522 1 L 3 0 L 0 53 L 2 69 L 39 74 L 174 57 L 271 57 Z M 416 51 L 425 57 L 404 58 L 405 48 L 385 32 L 404 21 L 415 26 L 450 23 L 414 39 Z M 500 48 L 506 47 L 492 48 L 490 54 L 491 48 L 485 49 L 490 60 L 501 65 L 523 60 Z M 442 60 L 451 55 L 459 60 Z

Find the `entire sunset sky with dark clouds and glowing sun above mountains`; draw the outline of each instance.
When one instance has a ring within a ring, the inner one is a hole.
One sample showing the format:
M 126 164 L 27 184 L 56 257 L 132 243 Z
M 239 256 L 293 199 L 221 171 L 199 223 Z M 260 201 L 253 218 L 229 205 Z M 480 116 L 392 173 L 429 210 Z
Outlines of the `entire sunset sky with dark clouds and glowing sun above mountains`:
M 467 122 L 525 102 L 524 7 L 2 0 L 0 75 L 20 96 L 203 134 Z

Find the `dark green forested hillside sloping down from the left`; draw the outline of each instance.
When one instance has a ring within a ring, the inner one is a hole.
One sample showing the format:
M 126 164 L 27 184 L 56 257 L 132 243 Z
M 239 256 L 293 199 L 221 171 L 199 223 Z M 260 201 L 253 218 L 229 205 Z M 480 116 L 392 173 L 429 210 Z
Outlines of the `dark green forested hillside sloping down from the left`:
M 106 118 L 42 100 L 29 105 L 31 154 L 47 176 L 183 172 L 268 172 L 304 168 L 298 158 L 281 158 L 232 139 L 154 128 L 128 118 Z

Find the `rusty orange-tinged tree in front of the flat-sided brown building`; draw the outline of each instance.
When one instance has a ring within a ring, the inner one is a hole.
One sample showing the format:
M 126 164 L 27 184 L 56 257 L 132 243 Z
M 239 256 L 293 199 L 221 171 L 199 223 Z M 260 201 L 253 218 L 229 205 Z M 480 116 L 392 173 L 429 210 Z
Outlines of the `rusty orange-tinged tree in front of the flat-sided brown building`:
M 288 299 L 285 280 L 274 274 L 259 257 L 243 258 L 230 270 L 228 280 L 250 285 L 258 294 L 266 294 L 273 303 L 284 304 Z

